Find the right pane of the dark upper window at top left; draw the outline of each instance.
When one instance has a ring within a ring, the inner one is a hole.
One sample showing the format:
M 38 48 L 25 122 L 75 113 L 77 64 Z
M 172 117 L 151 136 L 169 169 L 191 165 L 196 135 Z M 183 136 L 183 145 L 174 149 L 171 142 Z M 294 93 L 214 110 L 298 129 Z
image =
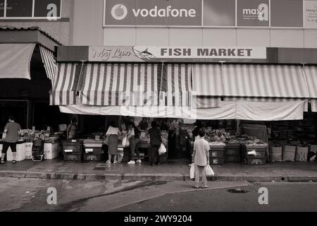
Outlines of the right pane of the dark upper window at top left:
M 61 0 L 35 0 L 35 17 L 61 17 Z

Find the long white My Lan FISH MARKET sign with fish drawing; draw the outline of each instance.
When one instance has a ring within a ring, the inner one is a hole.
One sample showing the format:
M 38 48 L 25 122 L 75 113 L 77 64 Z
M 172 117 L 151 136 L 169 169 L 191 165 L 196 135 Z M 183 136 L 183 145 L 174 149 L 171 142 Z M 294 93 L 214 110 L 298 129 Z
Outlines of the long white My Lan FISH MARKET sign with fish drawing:
M 89 61 L 161 62 L 266 59 L 266 47 L 89 47 Z

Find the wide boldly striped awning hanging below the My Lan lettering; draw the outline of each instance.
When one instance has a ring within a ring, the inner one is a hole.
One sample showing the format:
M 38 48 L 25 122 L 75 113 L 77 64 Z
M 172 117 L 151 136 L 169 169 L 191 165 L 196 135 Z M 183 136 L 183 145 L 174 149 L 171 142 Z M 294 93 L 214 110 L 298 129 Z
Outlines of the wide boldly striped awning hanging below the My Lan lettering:
M 94 106 L 188 105 L 192 90 L 185 64 L 85 64 L 80 102 Z

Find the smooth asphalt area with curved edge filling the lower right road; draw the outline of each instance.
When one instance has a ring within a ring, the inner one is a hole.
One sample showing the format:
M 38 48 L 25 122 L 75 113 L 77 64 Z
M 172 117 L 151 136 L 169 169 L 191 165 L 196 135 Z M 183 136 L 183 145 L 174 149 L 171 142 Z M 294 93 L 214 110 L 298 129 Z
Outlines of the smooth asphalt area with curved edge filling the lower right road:
M 265 202 L 263 191 L 268 199 Z M 231 193 L 229 189 L 199 190 L 167 194 L 149 201 L 136 203 L 115 211 L 120 212 L 266 212 L 266 211 L 317 211 L 316 183 L 265 183 L 242 186 L 246 193 Z M 238 191 L 239 192 L 239 191 Z M 261 196 L 261 198 L 260 198 Z M 262 205 L 259 204 L 259 198 Z

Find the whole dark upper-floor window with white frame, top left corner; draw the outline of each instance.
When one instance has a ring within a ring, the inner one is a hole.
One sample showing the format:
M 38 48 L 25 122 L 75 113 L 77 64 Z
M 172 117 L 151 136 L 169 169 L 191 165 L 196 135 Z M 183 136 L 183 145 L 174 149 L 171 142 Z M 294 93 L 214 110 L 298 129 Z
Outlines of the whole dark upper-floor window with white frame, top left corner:
M 0 0 L 1 18 L 61 18 L 62 0 Z

